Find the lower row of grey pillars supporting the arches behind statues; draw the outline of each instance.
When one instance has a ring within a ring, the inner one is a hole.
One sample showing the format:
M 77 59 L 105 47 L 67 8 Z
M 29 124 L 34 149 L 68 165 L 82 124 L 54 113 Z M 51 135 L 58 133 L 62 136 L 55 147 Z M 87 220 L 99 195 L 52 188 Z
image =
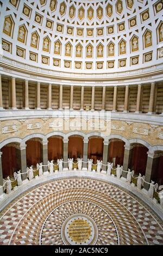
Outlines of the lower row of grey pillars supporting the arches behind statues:
M 83 138 L 83 161 L 86 162 L 88 159 L 88 149 L 89 149 L 89 140 L 93 139 L 92 138 Z M 102 138 L 101 138 L 102 139 Z M 108 139 L 103 139 L 103 151 L 102 151 L 102 161 L 103 164 L 107 164 L 109 160 L 109 145 L 110 145 L 111 140 L 109 141 Z M 47 164 L 48 160 L 48 140 L 41 141 L 41 162 L 43 162 L 44 165 Z M 64 162 L 67 162 L 68 160 L 68 138 L 62 138 L 62 143 L 63 143 L 63 151 L 62 155 L 60 155 L 59 158 L 63 158 Z M 21 169 L 22 173 L 26 173 L 27 169 L 27 155 L 26 155 L 26 147 L 27 145 L 19 145 L 17 146 L 18 149 L 18 168 Z M 54 145 L 55 147 L 55 145 Z M 134 145 L 133 144 L 124 144 L 124 149 L 123 149 L 123 169 L 128 170 L 128 168 L 131 168 L 131 157 L 132 157 L 132 152 L 131 150 L 133 149 Z M 2 148 L 3 149 L 3 148 Z M 1 150 L 2 150 L 1 149 Z M 3 151 L 3 150 L 2 150 Z M 155 178 L 156 176 L 156 170 L 155 166 L 156 162 L 159 160 L 160 155 L 163 155 L 163 151 L 160 153 L 157 152 L 151 152 L 147 149 L 147 164 L 146 164 L 146 169 L 145 169 L 145 179 L 147 182 L 151 182 L 152 179 Z M 3 166 L 2 166 L 2 152 L 0 154 L 0 185 L 3 184 Z M 162 158 L 163 160 L 163 158 Z M 162 161 L 161 160 L 161 161 Z M 138 160 L 139 161 L 139 160 Z M 162 161 L 163 164 L 163 161 Z M 86 168 L 86 163 L 83 163 L 83 168 Z M 67 168 L 67 163 L 64 163 L 64 168 Z M 106 166 L 103 165 L 102 170 L 106 171 Z M 47 167 L 43 167 L 44 172 L 47 171 Z M 144 173 L 143 173 L 144 174 Z M 123 176 L 126 178 L 126 173 L 123 173 Z M 26 174 L 23 175 L 23 179 L 26 178 Z M 162 179 L 162 178 L 161 178 Z M 163 180 L 163 179 L 162 179 Z M 148 188 L 148 185 L 147 185 Z

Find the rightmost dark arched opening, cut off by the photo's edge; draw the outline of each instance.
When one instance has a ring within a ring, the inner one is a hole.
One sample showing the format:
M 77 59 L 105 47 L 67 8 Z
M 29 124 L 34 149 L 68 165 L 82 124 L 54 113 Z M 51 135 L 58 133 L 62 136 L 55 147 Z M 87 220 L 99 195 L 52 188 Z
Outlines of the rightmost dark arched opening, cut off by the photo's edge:
M 163 185 L 163 151 L 155 151 L 153 161 L 152 180 Z

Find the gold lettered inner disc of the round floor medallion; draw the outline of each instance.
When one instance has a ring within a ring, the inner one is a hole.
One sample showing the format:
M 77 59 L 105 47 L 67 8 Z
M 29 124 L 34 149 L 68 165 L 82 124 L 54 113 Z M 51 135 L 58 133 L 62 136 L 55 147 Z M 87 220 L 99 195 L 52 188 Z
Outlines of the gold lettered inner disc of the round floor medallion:
M 83 243 L 89 239 L 91 235 L 91 227 L 85 220 L 74 220 L 68 227 L 68 235 L 74 242 Z

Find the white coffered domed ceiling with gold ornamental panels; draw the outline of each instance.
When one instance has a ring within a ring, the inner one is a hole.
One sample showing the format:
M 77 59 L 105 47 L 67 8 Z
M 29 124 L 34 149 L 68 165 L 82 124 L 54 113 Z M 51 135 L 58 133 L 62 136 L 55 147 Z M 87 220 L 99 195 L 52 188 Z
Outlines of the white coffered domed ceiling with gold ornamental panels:
M 162 63 L 163 1 L 2 0 L 3 55 L 67 72 Z

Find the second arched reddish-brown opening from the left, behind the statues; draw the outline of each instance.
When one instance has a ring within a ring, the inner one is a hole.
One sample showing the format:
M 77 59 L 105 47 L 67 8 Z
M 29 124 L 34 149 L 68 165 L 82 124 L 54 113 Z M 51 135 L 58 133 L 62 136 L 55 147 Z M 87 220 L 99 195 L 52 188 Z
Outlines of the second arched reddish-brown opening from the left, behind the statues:
M 42 144 L 39 138 L 32 138 L 26 142 L 27 166 L 36 166 L 42 162 Z

